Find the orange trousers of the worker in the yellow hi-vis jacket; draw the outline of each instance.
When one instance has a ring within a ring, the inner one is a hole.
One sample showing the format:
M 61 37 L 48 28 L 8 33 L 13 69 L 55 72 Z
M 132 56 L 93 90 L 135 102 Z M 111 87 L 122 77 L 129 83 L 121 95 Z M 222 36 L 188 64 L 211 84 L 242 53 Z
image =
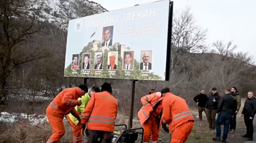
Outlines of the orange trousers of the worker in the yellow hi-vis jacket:
M 73 130 L 73 143 L 82 143 L 81 124 L 75 125 L 67 115 L 66 117 Z

